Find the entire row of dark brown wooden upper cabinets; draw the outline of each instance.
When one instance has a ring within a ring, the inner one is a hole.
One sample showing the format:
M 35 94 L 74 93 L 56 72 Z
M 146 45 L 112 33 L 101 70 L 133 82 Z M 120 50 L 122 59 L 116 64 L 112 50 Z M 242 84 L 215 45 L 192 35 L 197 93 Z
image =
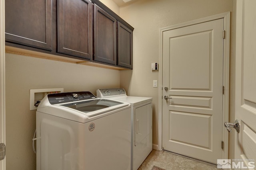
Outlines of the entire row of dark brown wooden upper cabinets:
M 29 55 L 132 69 L 133 29 L 100 0 L 5 1 L 6 46 Z

